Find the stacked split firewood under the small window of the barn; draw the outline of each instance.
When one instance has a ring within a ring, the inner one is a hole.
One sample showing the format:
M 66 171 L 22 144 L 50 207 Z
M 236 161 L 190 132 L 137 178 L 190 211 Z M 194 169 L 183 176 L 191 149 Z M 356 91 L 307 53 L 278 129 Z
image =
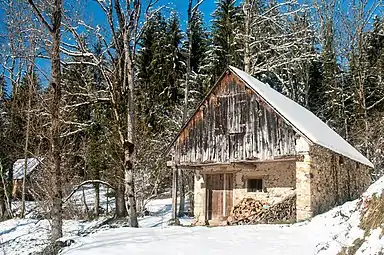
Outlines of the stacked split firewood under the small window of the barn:
M 290 222 L 296 217 L 296 196 L 291 195 L 275 204 L 244 198 L 236 205 L 227 222 L 229 225 Z

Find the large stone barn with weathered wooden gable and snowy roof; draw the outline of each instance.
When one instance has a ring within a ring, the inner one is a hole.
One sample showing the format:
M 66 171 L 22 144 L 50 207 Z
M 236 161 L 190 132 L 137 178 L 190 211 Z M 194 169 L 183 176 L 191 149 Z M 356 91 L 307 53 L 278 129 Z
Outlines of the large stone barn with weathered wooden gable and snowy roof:
M 296 220 L 305 220 L 357 198 L 373 168 L 313 113 L 235 67 L 199 104 L 169 154 L 174 190 L 177 169 L 195 173 L 198 224 L 226 221 L 244 198 L 274 204 L 289 194 Z

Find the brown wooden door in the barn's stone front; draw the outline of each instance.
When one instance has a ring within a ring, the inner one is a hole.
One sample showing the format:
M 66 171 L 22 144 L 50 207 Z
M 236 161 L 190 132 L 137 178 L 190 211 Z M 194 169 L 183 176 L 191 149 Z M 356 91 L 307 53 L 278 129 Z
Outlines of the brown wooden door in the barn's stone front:
M 233 206 L 233 174 L 207 174 L 208 220 L 226 219 Z

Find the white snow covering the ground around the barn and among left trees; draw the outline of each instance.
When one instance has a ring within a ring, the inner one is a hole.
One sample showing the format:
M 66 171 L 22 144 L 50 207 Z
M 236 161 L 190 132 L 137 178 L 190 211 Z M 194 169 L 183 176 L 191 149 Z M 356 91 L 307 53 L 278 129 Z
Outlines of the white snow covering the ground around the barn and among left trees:
M 75 241 L 61 254 L 337 254 L 361 239 L 356 254 L 383 254 L 383 225 L 367 233 L 360 229 L 361 215 L 373 194 L 381 196 L 384 177 L 361 199 L 348 202 L 310 221 L 291 225 L 234 227 L 168 226 L 171 199 L 151 201 L 151 216 L 139 220 L 139 229 L 98 228 L 99 222 L 65 221 L 65 238 Z M 383 198 L 382 198 L 383 199 Z M 0 254 L 28 254 L 47 242 L 48 222 L 9 220 L 0 223 Z M 90 233 L 90 234 L 89 234 Z

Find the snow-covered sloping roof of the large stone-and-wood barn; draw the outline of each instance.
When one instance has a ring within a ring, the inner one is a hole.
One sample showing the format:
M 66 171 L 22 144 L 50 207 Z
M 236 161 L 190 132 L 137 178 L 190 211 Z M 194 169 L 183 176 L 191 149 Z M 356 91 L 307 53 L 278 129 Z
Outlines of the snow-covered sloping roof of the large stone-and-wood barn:
M 244 71 L 230 66 L 230 70 L 242 79 L 289 124 L 315 144 L 328 148 L 350 159 L 373 168 L 373 164 L 358 150 L 333 131 L 316 115 L 270 86 L 253 78 Z

